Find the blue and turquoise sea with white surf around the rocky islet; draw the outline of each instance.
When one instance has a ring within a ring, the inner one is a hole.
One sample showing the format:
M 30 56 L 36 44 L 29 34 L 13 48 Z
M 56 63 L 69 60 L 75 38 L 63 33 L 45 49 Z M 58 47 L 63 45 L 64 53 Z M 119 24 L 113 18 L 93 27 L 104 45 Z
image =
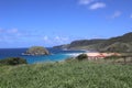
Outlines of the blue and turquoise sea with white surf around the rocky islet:
M 47 50 L 50 51 L 50 53 L 52 53 L 51 55 L 45 56 L 22 55 L 22 53 L 25 53 L 26 50 L 28 48 L 0 48 L 0 59 L 4 59 L 7 57 L 23 57 L 28 61 L 29 64 L 44 62 L 59 62 L 86 52 L 86 51 L 65 51 L 48 47 Z

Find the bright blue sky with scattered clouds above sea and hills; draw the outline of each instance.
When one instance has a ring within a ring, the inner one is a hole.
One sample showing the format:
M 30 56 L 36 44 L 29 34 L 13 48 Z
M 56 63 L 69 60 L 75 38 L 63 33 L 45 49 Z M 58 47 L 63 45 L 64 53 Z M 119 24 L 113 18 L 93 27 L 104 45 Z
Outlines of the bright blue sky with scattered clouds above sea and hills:
M 0 0 L 0 48 L 68 44 L 132 31 L 132 0 Z

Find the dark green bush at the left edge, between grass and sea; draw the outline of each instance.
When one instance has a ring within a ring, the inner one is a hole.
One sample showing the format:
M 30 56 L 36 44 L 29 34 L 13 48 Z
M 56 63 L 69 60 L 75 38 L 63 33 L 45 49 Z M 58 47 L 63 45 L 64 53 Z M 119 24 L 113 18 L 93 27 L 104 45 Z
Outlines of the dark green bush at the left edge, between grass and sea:
M 20 65 L 20 64 L 28 64 L 26 59 L 21 57 L 9 57 L 6 59 L 0 61 L 1 65 Z

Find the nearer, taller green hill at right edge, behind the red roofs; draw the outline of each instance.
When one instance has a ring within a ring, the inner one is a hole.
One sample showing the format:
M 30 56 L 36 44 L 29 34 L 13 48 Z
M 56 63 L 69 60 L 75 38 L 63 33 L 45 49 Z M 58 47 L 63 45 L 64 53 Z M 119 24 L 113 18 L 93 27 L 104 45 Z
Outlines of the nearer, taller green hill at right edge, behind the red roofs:
M 100 51 L 102 52 L 132 52 L 132 33 L 127 33 L 122 36 L 111 37 L 105 43 L 101 43 Z

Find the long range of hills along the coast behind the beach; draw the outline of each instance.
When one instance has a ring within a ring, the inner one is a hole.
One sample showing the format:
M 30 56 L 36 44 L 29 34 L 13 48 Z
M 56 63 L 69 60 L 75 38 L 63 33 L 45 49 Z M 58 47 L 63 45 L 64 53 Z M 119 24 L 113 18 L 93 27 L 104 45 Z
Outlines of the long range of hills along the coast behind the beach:
M 55 46 L 67 50 L 88 50 L 97 52 L 132 52 L 132 32 L 108 40 L 79 40 L 67 45 Z

